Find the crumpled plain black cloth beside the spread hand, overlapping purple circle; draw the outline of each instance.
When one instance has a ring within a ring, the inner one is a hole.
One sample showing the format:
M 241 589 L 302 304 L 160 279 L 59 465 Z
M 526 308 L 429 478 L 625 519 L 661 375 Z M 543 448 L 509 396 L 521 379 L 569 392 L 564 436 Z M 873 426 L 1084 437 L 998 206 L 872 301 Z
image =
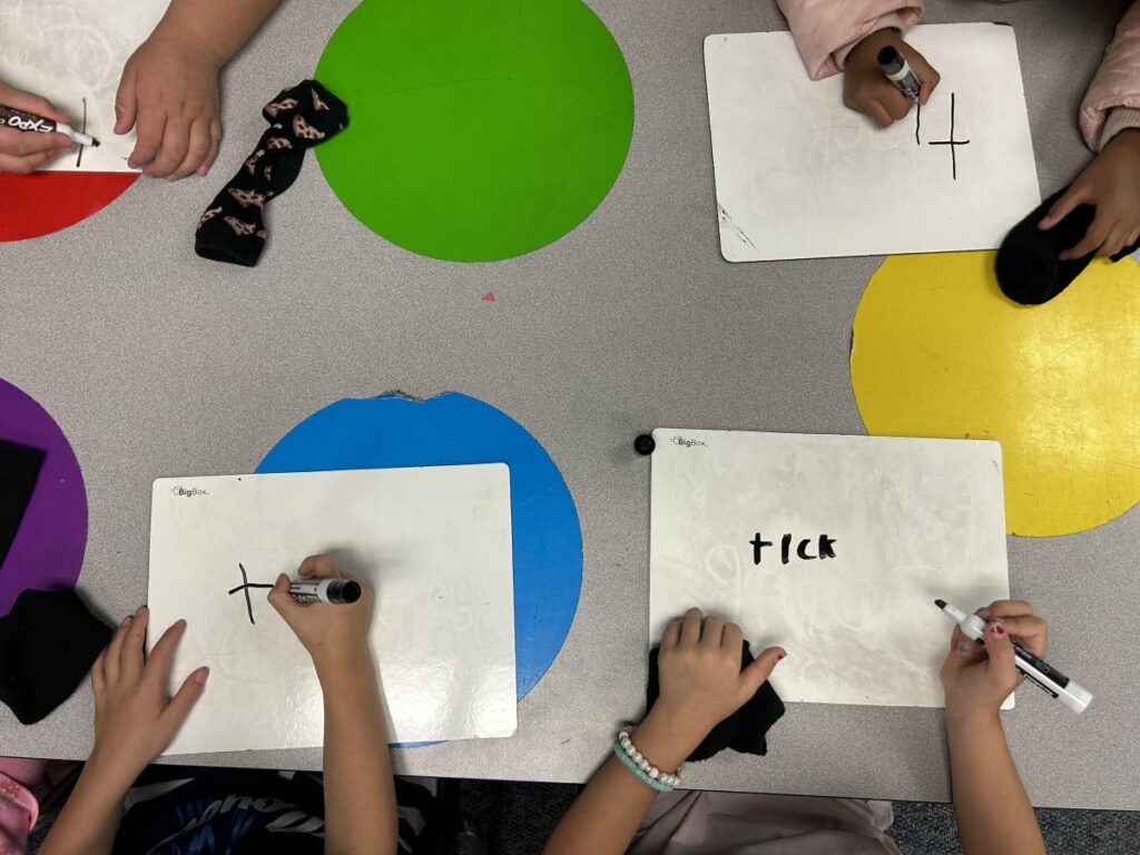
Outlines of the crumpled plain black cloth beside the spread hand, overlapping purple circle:
M 21 592 L 0 618 L 0 701 L 35 724 L 71 697 L 111 634 L 74 591 Z

